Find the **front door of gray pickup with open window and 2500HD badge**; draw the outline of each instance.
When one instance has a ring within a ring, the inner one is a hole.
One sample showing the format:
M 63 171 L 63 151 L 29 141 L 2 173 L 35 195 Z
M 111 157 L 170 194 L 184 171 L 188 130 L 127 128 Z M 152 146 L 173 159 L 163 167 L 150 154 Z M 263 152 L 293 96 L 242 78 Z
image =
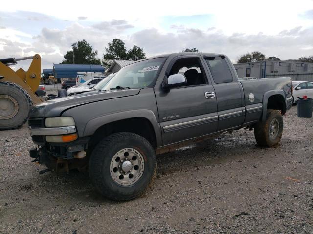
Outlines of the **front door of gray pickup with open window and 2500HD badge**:
M 170 63 L 168 74 L 184 74 L 187 84 L 169 91 L 155 91 L 163 146 L 215 132 L 218 123 L 215 91 L 200 58 L 179 56 Z

